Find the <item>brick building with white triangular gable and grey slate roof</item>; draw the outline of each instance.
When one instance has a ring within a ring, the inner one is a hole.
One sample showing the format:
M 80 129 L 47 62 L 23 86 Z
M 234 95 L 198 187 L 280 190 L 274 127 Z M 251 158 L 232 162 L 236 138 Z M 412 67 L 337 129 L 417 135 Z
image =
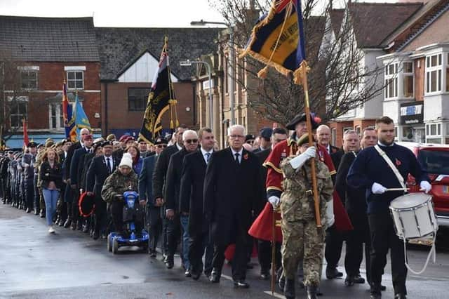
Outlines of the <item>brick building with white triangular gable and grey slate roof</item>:
M 102 132 L 137 136 L 142 126 L 149 88 L 159 64 L 164 36 L 168 36 L 170 76 L 177 99 L 180 124 L 199 128 L 193 60 L 215 48 L 217 28 L 95 28 L 101 60 Z M 169 115 L 162 119 L 168 132 Z

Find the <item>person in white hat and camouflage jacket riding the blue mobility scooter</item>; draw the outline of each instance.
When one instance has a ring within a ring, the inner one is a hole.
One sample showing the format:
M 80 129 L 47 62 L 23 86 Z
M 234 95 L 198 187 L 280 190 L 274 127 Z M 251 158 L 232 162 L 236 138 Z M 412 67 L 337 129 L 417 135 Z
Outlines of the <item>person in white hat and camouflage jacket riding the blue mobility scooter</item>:
M 119 167 L 109 175 L 101 190 L 101 197 L 107 202 L 107 211 L 112 214 L 112 222 L 117 234 L 123 235 L 123 192 L 138 192 L 138 175 L 133 171 L 133 159 L 128 153 L 123 154 Z M 141 206 L 145 206 L 146 201 L 140 201 Z M 143 225 L 143 223 L 135 223 Z

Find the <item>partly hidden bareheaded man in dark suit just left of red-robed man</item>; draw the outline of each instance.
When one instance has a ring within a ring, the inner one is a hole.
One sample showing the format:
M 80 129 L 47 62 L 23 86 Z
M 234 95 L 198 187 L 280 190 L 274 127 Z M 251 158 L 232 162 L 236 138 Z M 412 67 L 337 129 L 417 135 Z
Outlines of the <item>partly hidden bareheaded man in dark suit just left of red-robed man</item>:
M 262 137 L 262 133 L 260 134 Z M 263 166 L 265 160 L 269 156 L 269 153 L 272 152 L 272 148 L 277 145 L 279 142 L 286 140 L 288 138 L 287 131 L 283 128 L 275 128 L 272 130 L 271 137 L 271 147 L 267 150 L 262 150 L 260 152 L 255 152 L 255 155 L 259 159 L 260 163 L 260 181 L 262 184 L 262 194 L 260 197 L 260 208 L 257 208 L 257 214 L 262 211 L 262 208 L 265 204 L 267 204 L 267 190 L 265 190 L 265 182 L 267 181 L 267 168 Z M 257 215 L 255 215 L 257 217 Z M 260 278 L 269 279 L 269 270 L 272 263 L 272 242 L 257 240 L 257 248 L 258 253 L 257 257 L 259 258 L 260 264 Z M 276 243 L 276 266 L 281 267 L 281 243 Z

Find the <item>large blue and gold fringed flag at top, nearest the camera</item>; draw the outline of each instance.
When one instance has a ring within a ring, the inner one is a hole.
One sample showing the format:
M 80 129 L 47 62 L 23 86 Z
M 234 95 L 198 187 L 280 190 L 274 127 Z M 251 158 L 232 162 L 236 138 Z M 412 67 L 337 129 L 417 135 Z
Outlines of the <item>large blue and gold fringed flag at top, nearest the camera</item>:
M 250 55 L 266 67 L 258 72 L 267 77 L 268 66 L 286 76 L 293 74 L 301 84 L 307 72 L 305 40 L 300 0 L 275 0 L 269 12 L 257 21 L 241 57 Z

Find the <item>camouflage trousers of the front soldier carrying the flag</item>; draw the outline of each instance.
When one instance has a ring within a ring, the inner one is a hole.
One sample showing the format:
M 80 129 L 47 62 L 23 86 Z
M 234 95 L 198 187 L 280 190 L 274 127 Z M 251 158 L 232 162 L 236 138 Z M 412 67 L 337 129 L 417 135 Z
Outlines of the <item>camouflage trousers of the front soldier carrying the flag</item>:
M 282 266 L 287 279 L 295 279 L 297 267 L 303 260 L 304 285 L 318 286 L 323 263 L 324 231 L 312 221 L 281 222 Z

